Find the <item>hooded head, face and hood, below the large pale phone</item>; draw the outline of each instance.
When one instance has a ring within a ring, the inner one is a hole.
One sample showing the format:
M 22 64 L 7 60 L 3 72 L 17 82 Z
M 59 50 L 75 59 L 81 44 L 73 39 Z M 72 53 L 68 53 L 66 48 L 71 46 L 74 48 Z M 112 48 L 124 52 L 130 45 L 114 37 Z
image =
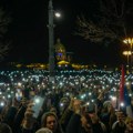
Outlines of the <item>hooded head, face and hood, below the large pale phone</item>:
M 52 132 L 58 130 L 58 116 L 53 112 L 47 112 L 42 115 L 42 127 L 48 127 Z

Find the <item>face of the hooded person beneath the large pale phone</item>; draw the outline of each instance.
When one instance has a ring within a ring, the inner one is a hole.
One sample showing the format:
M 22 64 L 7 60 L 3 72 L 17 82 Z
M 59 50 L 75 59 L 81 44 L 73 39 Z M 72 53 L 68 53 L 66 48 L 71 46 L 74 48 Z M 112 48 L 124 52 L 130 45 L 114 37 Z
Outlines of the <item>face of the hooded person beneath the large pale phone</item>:
M 47 117 L 47 127 L 50 129 L 52 132 L 55 132 L 58 127 L 58 122 L 54 115 L 49 115 Z

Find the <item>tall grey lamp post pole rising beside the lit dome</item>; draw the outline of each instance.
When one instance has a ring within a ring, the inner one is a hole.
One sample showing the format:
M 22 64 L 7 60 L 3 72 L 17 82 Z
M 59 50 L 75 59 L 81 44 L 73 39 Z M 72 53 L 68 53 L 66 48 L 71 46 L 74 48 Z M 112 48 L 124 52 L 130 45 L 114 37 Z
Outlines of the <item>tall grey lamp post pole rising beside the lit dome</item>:
M 54 23 L 53 23 L 53 6 L 52 0 L 49 1 L 49 82 L 53 82 L 54 79 L 54 66 L 55 66 L 55 59 L 54 59 Z

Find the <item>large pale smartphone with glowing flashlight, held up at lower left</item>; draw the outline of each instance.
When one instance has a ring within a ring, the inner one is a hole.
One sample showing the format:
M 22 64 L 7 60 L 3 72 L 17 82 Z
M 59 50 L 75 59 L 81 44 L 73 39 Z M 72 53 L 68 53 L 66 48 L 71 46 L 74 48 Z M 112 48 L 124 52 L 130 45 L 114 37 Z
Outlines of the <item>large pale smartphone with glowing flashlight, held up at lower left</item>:
M 39 113 L 40 113 L 40 110 L 43 105 L 43 102 L 44 102 L 44 98 L 42 98 L 42 96 L 35 95 L 33 98 L 33 106 L 32 106 L 32 110 L 34 111 L 33 117 L 37 119 L 39 116 Z

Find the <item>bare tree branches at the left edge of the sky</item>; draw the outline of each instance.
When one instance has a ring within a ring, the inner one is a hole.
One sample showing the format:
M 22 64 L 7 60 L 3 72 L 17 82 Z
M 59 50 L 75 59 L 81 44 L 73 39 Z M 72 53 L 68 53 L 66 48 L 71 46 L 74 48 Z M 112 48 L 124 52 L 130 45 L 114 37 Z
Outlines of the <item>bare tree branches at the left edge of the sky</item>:
M 9 51 L 10 41 L 7 40 L 6 33 L 11 18 L 0 8 L 0 61 L 4 59 Z

